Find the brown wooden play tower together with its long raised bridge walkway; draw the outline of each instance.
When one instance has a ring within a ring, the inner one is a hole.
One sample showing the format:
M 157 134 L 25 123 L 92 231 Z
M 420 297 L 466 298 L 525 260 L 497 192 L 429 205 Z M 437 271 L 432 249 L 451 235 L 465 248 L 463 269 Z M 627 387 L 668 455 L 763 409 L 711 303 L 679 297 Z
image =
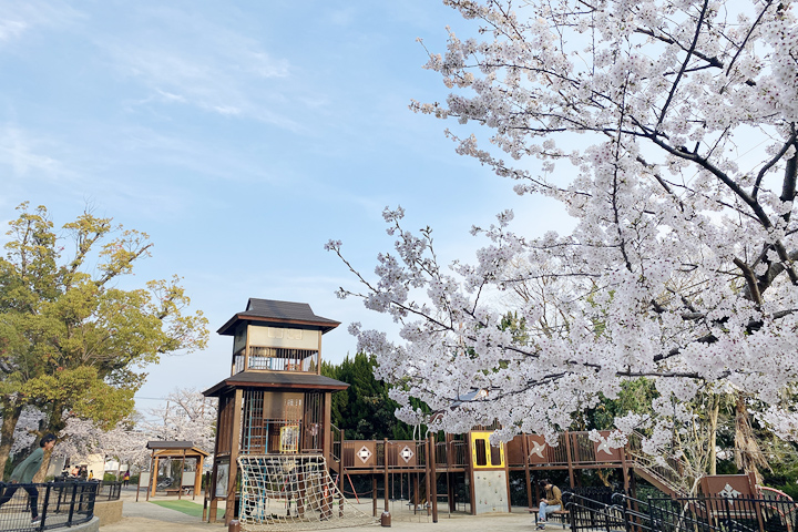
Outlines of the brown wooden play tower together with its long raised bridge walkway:
M 556 447 L 535 434 L 492 447 L 490 428 L 448 434 L 442 441 L 434 434 L 424 440 L 347 440 L 332 426 L 330 407 L 332 393 L 349 385 L 320 375 L 321 336 L 338 325 L 316 316 L 307 304 L 250 298 L 246 310 L 218 329 L 234 340 L 231 376 L 204 392 L 219 401 L 208 487 L 211 521 L 221 500 L 227 502 L 225 522 L 234 518 L 241 456 L 321 456 L 341 492 L 346 483 L 351 487 L 351 475 L 370 475 L 375 515 L 378 479 L 388 487 L 391 475 L 406 478 L 406 485 L 413 488 L 409 504 L 428 508 L 433 522 L 438 501 L 446 499 L 453 511 L 457 488 L 463 484 L 470 513 L 510 512 L 511 472 L 524 473 L 530 508 L 538 500 L 531 481 L 545 471 L 567 471 L 574 487 L 581 470 L 618 469 L 624 488 L 630 488 L 631 470 L 637 466 L 627 450 L 593 442 L 587 432 L 564 432 Z M 442 479 L 447 492 L 438 493 Z M 646 479 L 657 482 L 656 475 Z M 383 489 L 386 511 L 389 491 Z

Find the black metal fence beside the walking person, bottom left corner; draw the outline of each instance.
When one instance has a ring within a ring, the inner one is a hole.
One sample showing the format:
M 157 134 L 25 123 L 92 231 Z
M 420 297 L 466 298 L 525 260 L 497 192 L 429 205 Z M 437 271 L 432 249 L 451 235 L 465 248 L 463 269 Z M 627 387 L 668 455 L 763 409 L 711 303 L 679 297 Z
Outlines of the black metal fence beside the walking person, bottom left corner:
M 90 521 L 100 482 L 0 482 L 0 530 L 33 531 Z

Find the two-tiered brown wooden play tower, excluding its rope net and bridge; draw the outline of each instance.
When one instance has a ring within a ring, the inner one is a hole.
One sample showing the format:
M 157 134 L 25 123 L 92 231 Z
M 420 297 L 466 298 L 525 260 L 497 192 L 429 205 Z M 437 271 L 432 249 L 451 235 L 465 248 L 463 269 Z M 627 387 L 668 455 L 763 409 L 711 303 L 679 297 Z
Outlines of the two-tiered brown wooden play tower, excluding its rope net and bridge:
M 234 516 L 241 454 L 321 454 L 330 462 L 331 396 L 349 385 L 321 375 L 321 335 L 339 321 L 305 303 L 250 298 L 219 335 L 233 337 L 231 376 L 204 391 L 218 398 L 211 520 L 226 500 Z

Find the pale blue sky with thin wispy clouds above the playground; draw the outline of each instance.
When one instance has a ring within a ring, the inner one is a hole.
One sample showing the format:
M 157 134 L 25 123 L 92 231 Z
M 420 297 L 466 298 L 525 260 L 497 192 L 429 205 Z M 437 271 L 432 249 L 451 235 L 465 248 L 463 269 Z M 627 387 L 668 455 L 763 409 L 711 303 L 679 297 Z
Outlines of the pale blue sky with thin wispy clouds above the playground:
M 468 30 L 429 0 L 0 0 L 0 222 L 29 201 L 58 225 L 89 205 L 145 232 L 133 280 L 183 276 L 211 321 L 205 351 L 150 368 L 140 409 L 229 374 L 215 330 L 248 297 L 341 321 L 332 361 L 354 355 L 349 323 L 390 328 L 336 298 L 354 278 L 324 250 L 341 239 L 372 270 L 392 242 L 386 206 L 431 225 L 444 262 L 471 259 L 469 228 L 503 208 L 526 234 L 561 223 L 454 154 L 442 132 L 457 124 L 408 110 L 446 99 L 416 38 L 442 52 L 447 24 Z

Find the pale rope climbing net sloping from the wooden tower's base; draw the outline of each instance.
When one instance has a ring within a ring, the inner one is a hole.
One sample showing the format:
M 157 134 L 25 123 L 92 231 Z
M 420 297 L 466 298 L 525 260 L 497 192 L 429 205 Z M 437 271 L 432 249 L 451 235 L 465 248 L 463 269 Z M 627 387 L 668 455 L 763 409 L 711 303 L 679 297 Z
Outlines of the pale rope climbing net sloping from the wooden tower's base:
M 250 532 L 372 524 L 349 504 L 319 454 L 243 454 L 239 521 Z

